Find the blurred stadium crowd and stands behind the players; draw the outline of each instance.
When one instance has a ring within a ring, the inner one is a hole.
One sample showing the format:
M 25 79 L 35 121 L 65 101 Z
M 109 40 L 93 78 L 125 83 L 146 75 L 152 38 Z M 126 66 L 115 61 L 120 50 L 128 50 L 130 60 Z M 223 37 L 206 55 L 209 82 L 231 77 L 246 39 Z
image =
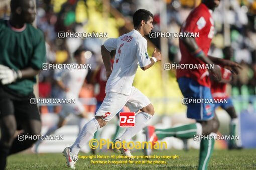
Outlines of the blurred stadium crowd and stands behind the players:
M 0 3 L 0 18 L 8 19 L 10 0 Z M 35 25 L 45 34 L 47 62 L 65 63 L 72 58 L 72 53 L 82 45 L 92 56 L 88 63 L 92 69 L 102 65 L 100 45 L 106 39 L 100 38 L 58 38 L 60 31 L 73 32 L 108 32 L 108 37 L 118 37 L 133 29 L 132 15 L 140 8 L 151 11 L 154 15 L 156 32 L 179 32 L 180 26 L 189 12 L 200 0 L 36 0 L 37 18 Z M 226 5 L 223 5 L 223 4 Z M 254 0 L 222 0 L 221 5 L 213 14 L 215 36 L 210 54 L 223 57 L 222 48 L 231 45 L 234 51 L 233 60 L 240 63 L 243 70 L 237 79 L 228 86 L 228 93 L 234 100 L 239 114 L 240 128 L 238 133 L 244 147 L 256 147 L 256 2 Z M 178 38 L 147 38 L 148 53 L 155 47 L 161 50 L 163 60 L 147 71 L 138 69 L 134 86 L 140 89 L 152 101 L 156 116 L 150 121 L 161 128 L 193 122 L 186 118 L 186 106 L 181 104 L 182 95 L 175 78 L 175 70 L 164 70 L 164 63 L 179 62 L 180 52 Z M 87 80 L 90 78 L 88 76 Z M 55 84 L 53 70 L 42 70 L 38 77 L 35 91 L 40 98 L 54 98 Z M 97 85 L 87 81 L 80 92 L 81 100 L 88 112 L 95 110 L 94 95 L 98 92 Z M 57 122 L 60 106 L 40 105 L 43 129 Z M 217 114 L 221 122 L 220 134 L 228 134 L 229 116 L 220 108 Z M 75 140 L 78 127 L 76 117 L 71 117 L 67 126 L 57 131 L 56 135 L 64 135 L 64 141 L 46 141 L 40 146 L 39 152 L 60 152 Z M 102 138 L 111 138 L 116 120 L 101 131 Z M 143 141 L 142 133 L 134 140 Z M 168 148 L 182 149 L 183 142 L 168 138 Z M 192 139 L 188 146 L 199 148 L 199 142 Z M 227 147 L 226 141 L 217 141 L 216 148 Z

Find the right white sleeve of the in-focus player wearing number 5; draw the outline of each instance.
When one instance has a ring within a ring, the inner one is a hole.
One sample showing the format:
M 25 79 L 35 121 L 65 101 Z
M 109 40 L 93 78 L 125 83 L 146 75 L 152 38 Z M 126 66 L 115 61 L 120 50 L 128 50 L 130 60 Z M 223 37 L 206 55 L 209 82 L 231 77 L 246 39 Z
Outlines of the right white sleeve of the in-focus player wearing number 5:
M 140 67 L 145 67 L 151 63 L 147 52 L 147 40 L 139 39 L 136 43 L 136 57 Z

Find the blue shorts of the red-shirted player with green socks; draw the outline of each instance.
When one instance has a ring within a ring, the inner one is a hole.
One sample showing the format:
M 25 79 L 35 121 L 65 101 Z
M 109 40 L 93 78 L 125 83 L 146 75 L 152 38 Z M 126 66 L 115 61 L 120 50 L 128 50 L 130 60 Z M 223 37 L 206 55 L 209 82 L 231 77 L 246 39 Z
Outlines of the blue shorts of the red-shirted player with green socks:
M 184 98 L 192 99 L 212 99 L 211 90 L 209 87 L 200 85 L 191 78 L 181 77 L 178 84 Z M 213 103 L 188 103 L 187 117 L 196 120 L 210 120 L 214 117 Z

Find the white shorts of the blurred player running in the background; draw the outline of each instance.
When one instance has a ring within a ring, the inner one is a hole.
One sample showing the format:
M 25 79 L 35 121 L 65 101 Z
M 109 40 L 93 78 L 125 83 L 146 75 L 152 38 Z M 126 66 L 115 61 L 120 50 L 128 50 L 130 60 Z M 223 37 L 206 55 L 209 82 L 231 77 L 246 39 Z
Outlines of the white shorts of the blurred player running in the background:
M 65 94 L 66 99 L 75 99 L 75 103 L 73 104 L 62 104 L 62 109 L 60 112 L 60 116 L 62 118 L 66 118 L 70 114 L 80 115 L 85 111 L 83 104 L 79 101 L 79 98 L 74 96 L 71 92 L 67 92 Z

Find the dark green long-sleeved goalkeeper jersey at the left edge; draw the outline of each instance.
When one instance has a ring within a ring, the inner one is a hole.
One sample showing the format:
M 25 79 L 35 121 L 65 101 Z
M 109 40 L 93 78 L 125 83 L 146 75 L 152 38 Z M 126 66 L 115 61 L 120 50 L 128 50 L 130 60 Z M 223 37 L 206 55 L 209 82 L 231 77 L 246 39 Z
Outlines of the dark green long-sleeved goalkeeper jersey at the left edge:
M 46 51 L 43 32 L 25 24 L 22 29 L 10 26 L 9 21 L 0 20 L 0 64 L 11 69 L 22 70 L 33 68 L 39 70 L 45 62 Z M 19 95 L 33 92 L 36 76 L 18 79 L 5 85 Z

